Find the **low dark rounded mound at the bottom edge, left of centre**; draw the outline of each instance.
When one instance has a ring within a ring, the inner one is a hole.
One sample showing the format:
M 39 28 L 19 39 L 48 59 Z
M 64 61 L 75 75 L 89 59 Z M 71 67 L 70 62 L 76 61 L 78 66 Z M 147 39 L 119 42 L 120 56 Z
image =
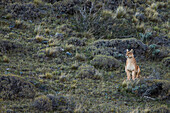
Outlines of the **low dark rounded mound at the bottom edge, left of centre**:
M 33 107 L 38 111 L 73 112 L 74 104 L 65 96 L 53 94 L 35 98 Z

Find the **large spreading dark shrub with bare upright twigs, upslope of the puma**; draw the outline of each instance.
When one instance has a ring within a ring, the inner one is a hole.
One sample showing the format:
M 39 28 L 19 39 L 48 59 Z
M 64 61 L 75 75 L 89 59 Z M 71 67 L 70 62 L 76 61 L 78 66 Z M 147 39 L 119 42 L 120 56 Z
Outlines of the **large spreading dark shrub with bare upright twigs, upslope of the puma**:
M 113 2 L 110 4 L 113 4 Z M 88 7 L 86 5 L 77 8 L 77 13 L 71 19 L 71 22 L 75 25 L 73 27 L 74 30 L 77 32 L 89 32 L 97 39 L 118 38 L 129 36 L 136 32 L 132 23 L 128 22 L 129 20 L 115 19 L 116 17 L 121 18 L 125 16 L 126 10 L 124 7 L 120 6 L 117 13 L 114 14 L 112 13 L 113 9 L 109 10 L 110 8 L 108 7 L 106 9 L 95 10 L 95 5 L 95 2 L 94 5 L 91 5 L 91 11 L 83 9 L 84 7 Z

